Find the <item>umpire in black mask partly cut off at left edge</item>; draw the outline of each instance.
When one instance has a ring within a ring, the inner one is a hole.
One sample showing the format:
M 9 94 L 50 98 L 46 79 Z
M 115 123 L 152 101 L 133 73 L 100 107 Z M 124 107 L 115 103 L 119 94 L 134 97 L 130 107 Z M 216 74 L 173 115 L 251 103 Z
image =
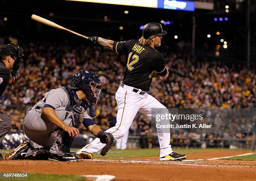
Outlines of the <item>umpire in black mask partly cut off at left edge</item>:
M 10 73 L 13 77 L 13 85 L 15 85 L 15 76 L 23 63 L 23 49 L 13 43 L 0 46 L 0 96 L 5 91 L 9 80 Z M 0 113 L 0 144 L 5 138 L 6 133 L 10 130 L 11 123 L 7 114 Z M 0 153 L 0 160 L 3 159 Z

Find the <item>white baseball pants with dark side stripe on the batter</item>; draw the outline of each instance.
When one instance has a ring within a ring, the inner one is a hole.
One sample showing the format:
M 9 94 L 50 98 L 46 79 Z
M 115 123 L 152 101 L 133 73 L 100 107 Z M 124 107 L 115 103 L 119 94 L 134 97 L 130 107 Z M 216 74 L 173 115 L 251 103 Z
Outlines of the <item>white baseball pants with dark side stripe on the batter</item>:
M 159 101 L 157 101 L 156 98 L 150 96 L 147 93 L 140 95 L 139 93 L 141 90 L 139 90 L 137 93 L 133 92 L 132 90 L 133 87 L 124 85 L 123 88 L 119 87 L 118 91 L 115 93 L 115 100 L 118 104 L 118 112 L 116 118 L 117 122 L 114 127 L 105 131 L 107 133 L 112 133 L 115 140 L 123 137 L 129 130 L 131 123 L 133 122 L 133 119 L 138 111 L 145 114 L 146 116 L 153 116 L 151 115 L 151 109 L 161 108 L 162 111 L 159 114 L 168 113 L 168 109 Z M 160 129 L 157 129 L 157 132 L 160 145 L 160 157 L 169 155 L 172 153 L 172 147 L 170 145 L 170 132 L 162 131 Z M 104 146 L 105 144 L 101 143 L 99 138 L 96 138 L 94 141 L 92 141 L 92 143 L 84 146 L 82 151 L 95 153 L 100 151 Z

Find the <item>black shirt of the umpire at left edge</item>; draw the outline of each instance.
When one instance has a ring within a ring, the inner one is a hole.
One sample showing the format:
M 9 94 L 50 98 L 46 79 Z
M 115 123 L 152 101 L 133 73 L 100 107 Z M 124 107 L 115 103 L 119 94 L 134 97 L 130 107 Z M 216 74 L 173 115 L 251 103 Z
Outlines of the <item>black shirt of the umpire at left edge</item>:
M 10 80 L 10 71 L 6 68 L 5 63 L 0 61 L 0 96 L 2 96 Z

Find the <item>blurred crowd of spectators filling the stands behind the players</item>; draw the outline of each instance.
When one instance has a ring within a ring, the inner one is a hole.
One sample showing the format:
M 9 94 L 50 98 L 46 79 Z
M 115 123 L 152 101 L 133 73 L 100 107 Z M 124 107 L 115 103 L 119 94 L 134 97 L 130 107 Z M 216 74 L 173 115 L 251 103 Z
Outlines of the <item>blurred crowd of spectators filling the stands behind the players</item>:
M 21 46 L 25 58 L 23 67 L 18 71 L 17 86 L 8 85 L 0 97 L 0 112 L 9 115 L 13 129 L 22 129 L 26 110 L 21 107 L 35 104 L 51 89 L 70 86 L 72 76 L 79 70 L 96 73 L 102 83 L 95 122 L 104 130 L 115 125 L 115 92 L 125 73 L 124 55 L 87 44 L 28 43 Z M 207 61 L 206 58 L 184 53 L 161 53 L 170 75 L 166 81 L 162 81 L 154 74 L 148 93 L 167 108 L 255 107 L 255 70 L 236 64 L 223 64 L 217 60 Z M 22 106 L 10 107 L 13 105 Z M 139 115 L 133 121 L 130 133 L 143 134 L 150 129 L 151 120 Z

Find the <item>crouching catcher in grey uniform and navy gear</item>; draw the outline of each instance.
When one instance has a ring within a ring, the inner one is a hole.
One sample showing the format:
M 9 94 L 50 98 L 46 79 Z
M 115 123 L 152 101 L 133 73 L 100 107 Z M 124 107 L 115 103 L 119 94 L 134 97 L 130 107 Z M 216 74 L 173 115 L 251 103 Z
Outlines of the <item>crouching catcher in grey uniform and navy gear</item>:
M 6 154 L 5 159 L 49 159 L 52 161 L 77 161 L 92 158 L 91 153 L 72 154 L 70 146 L 79 135 L 81 123 L 102 143 L 105 155 L 114 138 L 104 133 L 92 120 L 96 116 L 90 102 L 97 103 L 100 96 L 100 78 L 81 70 L 72 79 L 72 88 L 61 87 L 45 93 L 45 97 L 27 111 L 24 132 L 31 141 L 21 143 Z M 90 157 L 90 158 L 88 158 Z

